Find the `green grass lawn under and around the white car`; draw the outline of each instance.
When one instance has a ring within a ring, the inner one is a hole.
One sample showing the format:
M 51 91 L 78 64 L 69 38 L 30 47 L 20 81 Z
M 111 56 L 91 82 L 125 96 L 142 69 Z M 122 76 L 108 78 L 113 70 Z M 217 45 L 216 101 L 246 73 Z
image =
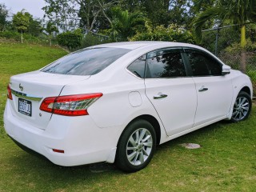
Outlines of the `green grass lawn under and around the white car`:
M 218 122 L 158 146 L 146 169 L 114 165 L 55 166 L 6 137 L 2 113 L 10 75 L 37 70 L 66 54 L 45 46 L 0 43 L 0 192 L 2 191 L 255 191 L 256 107 L 245 122 Z M 186 150 L 181 143 L 202 146 Z

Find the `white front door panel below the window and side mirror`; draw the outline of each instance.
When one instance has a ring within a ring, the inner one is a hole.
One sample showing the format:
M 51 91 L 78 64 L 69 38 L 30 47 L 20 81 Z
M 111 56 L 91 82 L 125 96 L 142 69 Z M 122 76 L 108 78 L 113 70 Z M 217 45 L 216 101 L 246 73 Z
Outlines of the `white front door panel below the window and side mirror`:
M 194 126 L 226 117 L 233 98 L 231 75 L 196 77 L 194 82 L 198 94 Z

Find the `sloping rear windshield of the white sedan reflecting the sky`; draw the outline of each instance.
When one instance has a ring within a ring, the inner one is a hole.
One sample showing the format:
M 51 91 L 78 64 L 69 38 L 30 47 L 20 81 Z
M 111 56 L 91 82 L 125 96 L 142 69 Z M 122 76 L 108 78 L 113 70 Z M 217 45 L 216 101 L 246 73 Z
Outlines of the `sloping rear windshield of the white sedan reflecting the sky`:
M 93 75 L 104 70 L 112 62 L 130 50 L 105 47 L 79 50 L 46 66 L 42 72 L 52 74 Z

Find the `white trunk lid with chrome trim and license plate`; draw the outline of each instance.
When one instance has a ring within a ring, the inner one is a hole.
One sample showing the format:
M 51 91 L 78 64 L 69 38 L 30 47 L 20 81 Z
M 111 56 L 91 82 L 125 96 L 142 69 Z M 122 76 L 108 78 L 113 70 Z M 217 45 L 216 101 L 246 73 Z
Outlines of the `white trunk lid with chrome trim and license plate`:
M 41 71 L 14 75 L 10 78 L 13 95 L 10 105 L 14 116 L 45 130 L 52 114 L 39 109 L 43 99 L 58 96 L 67 84 L 87 78 L 90 76 L 50 74 Z

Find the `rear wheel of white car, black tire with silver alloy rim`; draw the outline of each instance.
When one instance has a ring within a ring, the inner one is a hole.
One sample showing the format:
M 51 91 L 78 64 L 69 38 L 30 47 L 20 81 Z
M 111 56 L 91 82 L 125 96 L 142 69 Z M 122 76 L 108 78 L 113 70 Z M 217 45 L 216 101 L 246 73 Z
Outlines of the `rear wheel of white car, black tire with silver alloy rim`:
M 155 146 L 156 134 L 150 122 L 131 122 L 119 138 L 115 164 L 130 173 L 142 170 L 153 157 Z

